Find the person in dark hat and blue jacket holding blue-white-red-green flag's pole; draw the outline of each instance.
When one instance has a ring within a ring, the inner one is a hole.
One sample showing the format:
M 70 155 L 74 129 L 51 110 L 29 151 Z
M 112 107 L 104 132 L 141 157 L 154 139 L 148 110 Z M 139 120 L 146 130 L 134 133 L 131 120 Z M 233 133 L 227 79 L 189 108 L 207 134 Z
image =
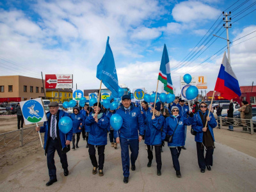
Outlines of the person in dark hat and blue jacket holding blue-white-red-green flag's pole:
M 156 163 L 157 163 L 157 175 L 161 175 L 162 160 L 161 160 L 161 147 L 162 147 L 162 136 L 161 127 L 164 126 L 164 116 L 160 113 L 161 102 L 157 102 L 154 105 L 155 115 L 152 113 L 147 113 L 145 126 L 145 144 L 147 145 L 148 151 L 148 164 L 150 167 L 153 159 L 153 146 L 156 152 Z M 152 146 L 152 147 L 151 147 Z

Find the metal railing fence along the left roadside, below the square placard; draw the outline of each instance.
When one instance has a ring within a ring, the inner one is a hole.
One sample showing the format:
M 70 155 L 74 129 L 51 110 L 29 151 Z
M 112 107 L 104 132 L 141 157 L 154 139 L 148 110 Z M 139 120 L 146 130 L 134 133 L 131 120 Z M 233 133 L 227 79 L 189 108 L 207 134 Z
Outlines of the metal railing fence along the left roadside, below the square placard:
M 42 124 L 38 124 L 39 126 Z M 22 147 L 31 141 L 38 140 L 38 132 L 35 125 L 21 128 L 16 131 L 4 132 L 0 134 L 0 154 L 12 150 L 13 148 Z M 42 138 L 43 134 L 41 133 Z

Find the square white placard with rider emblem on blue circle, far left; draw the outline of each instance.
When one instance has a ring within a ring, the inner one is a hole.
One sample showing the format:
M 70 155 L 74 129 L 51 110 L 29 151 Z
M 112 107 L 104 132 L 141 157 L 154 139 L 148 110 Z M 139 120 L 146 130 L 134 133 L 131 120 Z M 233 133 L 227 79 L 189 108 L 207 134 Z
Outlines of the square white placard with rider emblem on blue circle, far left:
M 20 101 L 20 109 L 25 125 L 47 121 L 42 98 Z

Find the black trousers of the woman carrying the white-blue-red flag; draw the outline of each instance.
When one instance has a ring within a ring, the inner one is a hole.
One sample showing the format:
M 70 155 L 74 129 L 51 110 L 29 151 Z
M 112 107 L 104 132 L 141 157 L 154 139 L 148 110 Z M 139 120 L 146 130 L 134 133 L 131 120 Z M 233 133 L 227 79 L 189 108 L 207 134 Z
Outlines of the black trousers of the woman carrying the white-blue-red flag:
M 207 149 L 206 154 L 204 157 L 204 148 L 201 149 L 201 143 L 196 142 L 196 150 L 197 150 L 197 160 L 198 160 L 198 165 L 200 169 L 205 170 L 206 165 L 211 165 L 212 166 L 212 155 L 213 155 L 213 150 L 214 149 Z

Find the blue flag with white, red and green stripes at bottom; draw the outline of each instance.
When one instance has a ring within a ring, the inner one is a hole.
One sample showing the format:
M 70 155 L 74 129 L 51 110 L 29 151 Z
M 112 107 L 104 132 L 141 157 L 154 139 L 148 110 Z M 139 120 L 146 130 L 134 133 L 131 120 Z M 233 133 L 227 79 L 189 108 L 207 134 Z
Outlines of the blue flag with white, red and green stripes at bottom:
M 173 85 L 171 79 L 171 71 L 170 71 L 170 62 L 169 56 L 166 49 L 166 45 L 164 44 L 164 50 L 158 75 L 158 80 L 164 84 L 164 90 L 166 92 L 173 94 Z

